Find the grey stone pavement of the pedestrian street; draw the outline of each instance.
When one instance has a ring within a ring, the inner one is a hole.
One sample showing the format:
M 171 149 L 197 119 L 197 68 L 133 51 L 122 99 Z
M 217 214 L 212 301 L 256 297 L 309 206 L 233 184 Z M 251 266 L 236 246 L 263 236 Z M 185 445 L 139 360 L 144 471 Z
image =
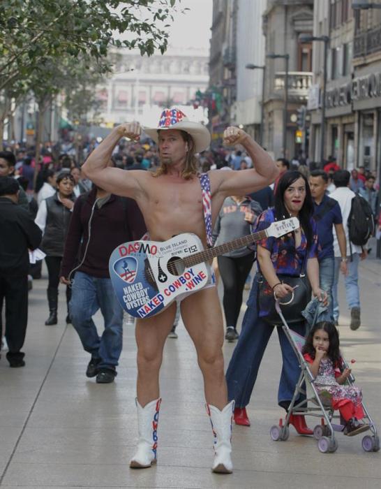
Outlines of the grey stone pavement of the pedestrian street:
M 381 261 L 361 263 L 360 276 L 362 325 L 357 331 L 348 326 L 341 286 L 341 344 L 345 357 L 357 360 L 357 384 L 380 428 Z M 36 280 L 30 293 L 26 367 L 10 369 L 5 352 L 0 360 L 1 489 L 380 488 L 380 452 L 365 453 L 361 435 L 337 435 L 338 451 L 331 454 L 320 453 L 314 439 L 297 436 L 293 428 L 287 441 L 271 441 L 269 428 L 283 415 L 276 405 L 281 362 L 275 334 L 248 407 L 251 428 L 234 426 L 234 474 L 211 474 L 212 435 L 202 378 L 182 325 L 179 339 L 165 345 L 158 465 L 129 469 L 137 439 L 133 327 L 124 327 L 116 381 L 98 385 L 85 377 L 89 356 L 73 326 L 64 324 L 63 289 L 59 324 L 44 326 L 45 287 L 45 279 Z M 101 327 L 100 316 L 97 323 Z M 234 344 L 224 346 L 226 365 L 233 349 Z

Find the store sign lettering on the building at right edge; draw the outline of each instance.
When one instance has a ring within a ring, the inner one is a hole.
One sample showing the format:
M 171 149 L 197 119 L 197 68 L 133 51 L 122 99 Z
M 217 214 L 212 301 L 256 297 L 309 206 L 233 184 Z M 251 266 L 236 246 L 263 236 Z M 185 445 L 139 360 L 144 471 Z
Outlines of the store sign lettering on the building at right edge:
M 341 87 L 328 89 L 325 104 L 327 108 L 343 107 L 354 100 L 365 100 L 381 96 L 381 73 L 354 78 Z

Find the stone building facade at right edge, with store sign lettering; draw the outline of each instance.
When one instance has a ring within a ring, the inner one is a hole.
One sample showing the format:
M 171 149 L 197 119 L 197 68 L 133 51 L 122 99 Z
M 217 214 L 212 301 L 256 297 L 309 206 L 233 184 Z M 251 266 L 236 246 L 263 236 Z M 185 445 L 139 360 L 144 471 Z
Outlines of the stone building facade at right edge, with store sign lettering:
M 379 3 L 375 1 L 372 3 Z M 315 2 L 314 35 L 329 36 L 324 159 L 376 175 L 381 159 L 381 10 L 353 10 L 350 0 Z M 323 43 L 313 46 L 311 161 L 320 161 Z M 320 96 L 314 96 L 317 88 Z M 319 101 L 320 100 L 320 101 Z

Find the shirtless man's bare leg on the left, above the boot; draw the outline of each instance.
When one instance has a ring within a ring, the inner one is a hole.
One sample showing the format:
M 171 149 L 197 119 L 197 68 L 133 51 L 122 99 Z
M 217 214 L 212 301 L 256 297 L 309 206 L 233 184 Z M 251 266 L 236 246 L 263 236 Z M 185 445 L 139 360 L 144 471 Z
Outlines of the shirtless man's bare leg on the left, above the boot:
M 159 397 L 159 371 L 163 360 L 163 348 L 172 328 L 176 303 L 157 316 L 137 319 L 135 338 L 137 343 L 137 400 L 144 407 Z

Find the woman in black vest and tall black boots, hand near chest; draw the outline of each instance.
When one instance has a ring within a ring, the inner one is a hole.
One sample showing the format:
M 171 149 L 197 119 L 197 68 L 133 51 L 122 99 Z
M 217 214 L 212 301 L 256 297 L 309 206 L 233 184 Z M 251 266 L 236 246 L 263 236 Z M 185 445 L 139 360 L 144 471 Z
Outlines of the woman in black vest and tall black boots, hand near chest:
M 57 175 L 57 192 L 40 203 L 35 219 L 41 231 L 43 241 L 41 249 L 46 254 L 45 262 L 49 282 L 47 284 L 47 301 L 49 302 L 50 315 L 45 321 L 46 326 L 57 324 L 59 269 L 63 256 L 63 246 L 70 224 L 70 218 L 74 206 L 75 181 L 68 172 Z M 70 302 L 71 291 L 66 287 L 66 304 Z M 69 309 L 66 323 L 71 323 Z

